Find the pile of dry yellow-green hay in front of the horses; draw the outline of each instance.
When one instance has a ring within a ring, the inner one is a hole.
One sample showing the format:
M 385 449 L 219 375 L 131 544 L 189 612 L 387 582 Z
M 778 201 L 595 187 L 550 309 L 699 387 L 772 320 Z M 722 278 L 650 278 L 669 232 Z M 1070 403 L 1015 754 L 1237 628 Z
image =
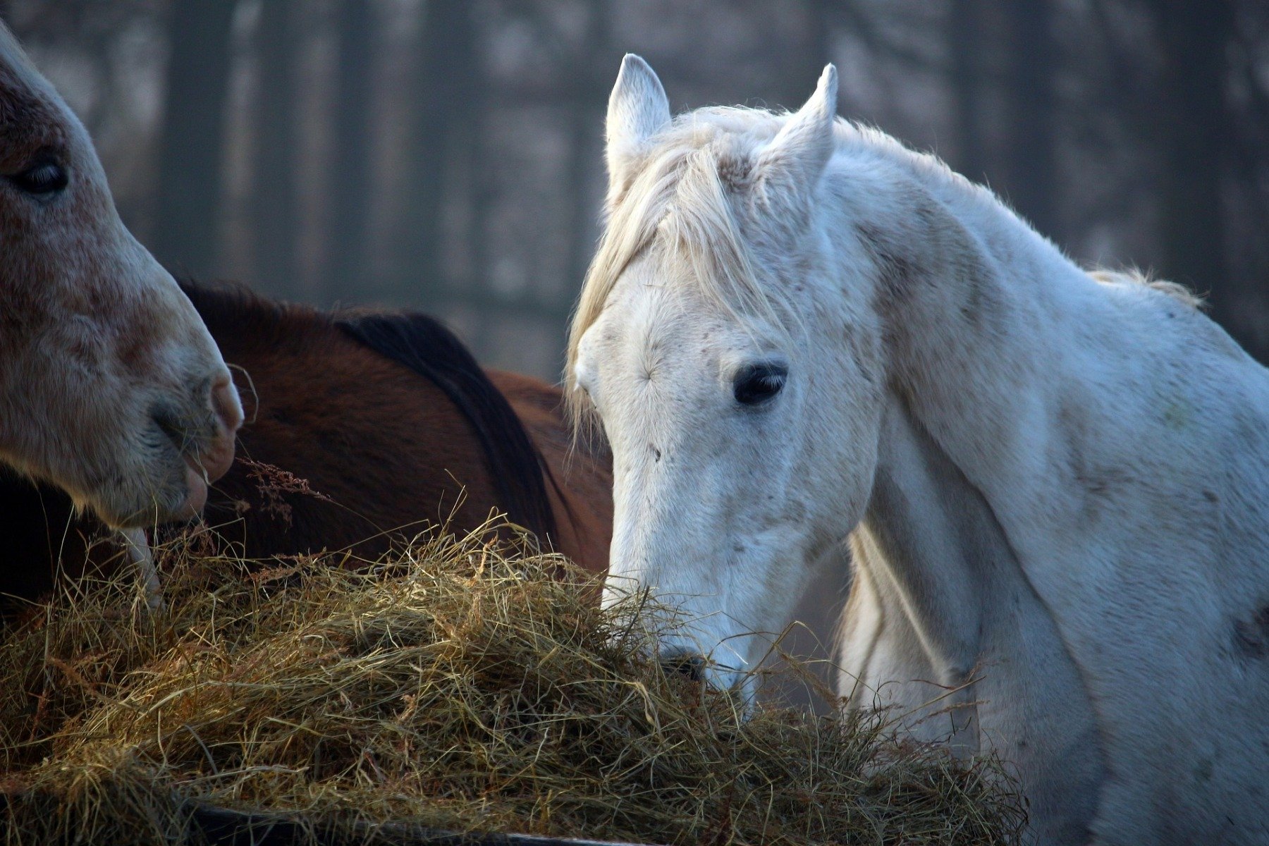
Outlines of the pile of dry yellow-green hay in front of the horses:
M 6 842 L 173 843 L 204 804 L 651 843 L 1011 843 L 987 761 L 702 690 L 647 660 L 673 615 L 600 610 L 551 556 L 437 539 L 369 571 L 160 550 L 0 643 Z M 637 614 L 638 613 L 638 614 Z M 332 833 L 334 832 L 334 833 Z M 315 838 L 317 836 L 315 835 Z

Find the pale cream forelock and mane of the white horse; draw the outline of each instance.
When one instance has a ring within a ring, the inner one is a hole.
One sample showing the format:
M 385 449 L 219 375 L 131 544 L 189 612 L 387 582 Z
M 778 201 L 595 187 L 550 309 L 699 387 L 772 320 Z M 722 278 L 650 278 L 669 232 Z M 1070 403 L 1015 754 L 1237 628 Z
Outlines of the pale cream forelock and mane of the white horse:
M 660 240 L 664 249 L 674 250 L 685 263 L 684 273 L 666 279 L 667 284 L 695 284 L 700 293 L 737 317 L 792 313 L 778 289 L 759 284 L 732 205 L 733 198 L 755 188 L 755 153 L 792 114 L 745 107 L 709 107 L 680 114 L 652 140 L 633 180 L 613 192 L 607 227 L 569 332 L 565 381 L 575 421 L 585 417 L 589 405 L 574 382 L 581 336 L 599 318 L 622 271 L 654 241 Z M 938 156 L 912 150 L 881 129 L 838 118 L 835 143 L 838 152 L 849 151 L 900 167 L 949 204 L 1016 218 L 990 189 L 953 171 Z M 1020 219 L 1019 223 L 1034 238 L 1046 241 L 1027 223 Z M 1183 285 L 1151 279 L 1137 270 L 1088 273 L 1101 284 L 1142 285 L 1188 306 L 1200 304 Z

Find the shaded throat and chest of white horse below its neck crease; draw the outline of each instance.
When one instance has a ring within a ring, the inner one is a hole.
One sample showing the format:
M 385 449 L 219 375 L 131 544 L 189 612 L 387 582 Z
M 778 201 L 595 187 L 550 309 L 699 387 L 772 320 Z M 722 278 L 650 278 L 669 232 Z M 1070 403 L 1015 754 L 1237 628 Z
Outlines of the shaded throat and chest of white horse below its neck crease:
M 891 397 L 839 639 L 839 693 L 957 755 L 999 753 L 1082 842 L 1104 756 L 1088 686 L 987 498 Z M 1053 762 L 1060 762 L 1053 766 Z

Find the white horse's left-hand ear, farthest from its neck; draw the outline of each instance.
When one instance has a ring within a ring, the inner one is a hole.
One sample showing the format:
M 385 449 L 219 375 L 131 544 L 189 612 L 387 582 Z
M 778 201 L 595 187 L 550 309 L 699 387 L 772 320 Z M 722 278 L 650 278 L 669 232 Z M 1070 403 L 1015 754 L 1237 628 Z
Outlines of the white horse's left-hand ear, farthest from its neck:
M 626 53 L 617 84 L 608 98 L 608 197 L 612 200 L 626 189 L 631 165 L 643 152 L 648 138 L 670 123 L 670 101 L 661 80 L 647 62 Z

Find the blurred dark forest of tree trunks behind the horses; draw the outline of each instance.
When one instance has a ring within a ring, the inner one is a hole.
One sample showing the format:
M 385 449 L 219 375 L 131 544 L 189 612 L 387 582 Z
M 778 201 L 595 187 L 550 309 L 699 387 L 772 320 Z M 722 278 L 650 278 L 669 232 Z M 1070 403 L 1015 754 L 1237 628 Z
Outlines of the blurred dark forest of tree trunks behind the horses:
M 840 113 L 1269 358 L 1264 0 L 0 0 L 174 271 L 419 307 L 555 379 L 622 53 L 675 109 Z

